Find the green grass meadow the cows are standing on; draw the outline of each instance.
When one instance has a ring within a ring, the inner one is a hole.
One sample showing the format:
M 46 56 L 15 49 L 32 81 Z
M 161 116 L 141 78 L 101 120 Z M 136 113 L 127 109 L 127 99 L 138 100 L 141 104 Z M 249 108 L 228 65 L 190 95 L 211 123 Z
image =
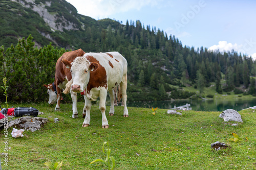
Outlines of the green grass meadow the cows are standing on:
M 12 106 L 12 105 L 10 105 Z M 78 103 L 78 118 L 73 119 L 72 105 L 62 104 L 61 111 L 47 104 L 19 104 L 33 106 L 44 112 L 41 117 L 50 122 L 41 130 L 25 131 L 25 137 L 12 138 L 8 129 L 8 166 L 3 162 L 4 131 L 0 136 L 0 156 L 3 169 L 48 169 L 45 162 L 61 162 L 65 169 L 106 169 L 102 163 L 91 161 L 105 156 L 102 143 L 110 136 L 114 169 L 256 169 L 256 113 L 240 111 L 243 124 L 231 126 L 219 118 L 220 112 L 183 111 L 182 116 L 166 114 L 158 109 L 129 107 L 129 117 L 123 117 L 123 107 L 115 107 L 115 115 L 108 116 L 109 129 L 101 128 L 98 105 L 92 106 L 91 125 L 82 128 L 83 103 Z M 106 107 L 106 113 L 110 107 Z M 49 117 L 52 116 L 52 117 Z M 54 124 L 54 118 L 60 122 Z M 228 142 L 232 133 L 247 142 Z M 210 144 L 225 142 L 228 149 L 214 151 Z M 137 154 L 139 156 L 137 156 Z

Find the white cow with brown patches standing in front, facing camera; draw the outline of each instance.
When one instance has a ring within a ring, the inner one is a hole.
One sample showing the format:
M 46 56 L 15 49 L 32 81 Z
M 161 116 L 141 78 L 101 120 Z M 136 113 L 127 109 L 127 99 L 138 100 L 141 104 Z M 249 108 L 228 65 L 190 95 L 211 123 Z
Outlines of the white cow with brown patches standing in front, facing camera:
M 86 117 L 82 127 L 90 125 L 91 101 L 99 98 L 99 109 L 102 113 L 102 128 L 109 128 L 105 115 L 106 95 L 109 91 L 111 107 L 109 115 L 114 115 L 114 88 L 120 85 L 121 98 L 124 104 L 123 116 L 128 117 L 126 106 L 127 95 L 127 61 L 118 52 L 109 53 L 86 53 L 83 57 L 77 57 L 73 62 L 62 59 L 62 62 L 71 71 L 72 81 L 64 91 L 69 89 L 73 92 L 86 91 Z

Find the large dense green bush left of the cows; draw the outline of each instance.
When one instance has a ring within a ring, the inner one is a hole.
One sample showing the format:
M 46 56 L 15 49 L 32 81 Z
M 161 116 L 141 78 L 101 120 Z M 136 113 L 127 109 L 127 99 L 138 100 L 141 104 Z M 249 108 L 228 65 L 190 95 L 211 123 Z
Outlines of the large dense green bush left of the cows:
M 10 101 L 39 102 L 48 98 L 43 84 L 52 83 L 57 59 L 66 52 L 55 48 L 51 43 L 40 49 L 34 47 L 30 35 L 19 39 L 16 46 L 7 50 L 0 48 L 0 80 L 8 80 L 8 98 Z M 0 90 L 3 92 L 3 89 Z M 3 96 L 0 100 L 4 101 Z

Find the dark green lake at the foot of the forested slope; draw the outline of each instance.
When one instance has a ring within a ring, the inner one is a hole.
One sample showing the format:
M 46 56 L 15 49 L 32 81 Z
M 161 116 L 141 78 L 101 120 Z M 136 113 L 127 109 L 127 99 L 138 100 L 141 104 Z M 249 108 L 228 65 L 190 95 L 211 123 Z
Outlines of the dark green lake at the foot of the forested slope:
M 228 100 L 175 100 L 175 101 L 146 101 L 146 102 L 129 102 L 129 107 L 143 107 L 143 108 L 161 108 L 170 109 L 182 105 L 190 104 L 192 110 L 196 111 L 224 111 L 226 109 L 234 109 L 240 111 L 248 107 L 256 106 L 256 99 L 242 100 L 234 99 Z M 120 104 L 118 104 L 120 106 Z

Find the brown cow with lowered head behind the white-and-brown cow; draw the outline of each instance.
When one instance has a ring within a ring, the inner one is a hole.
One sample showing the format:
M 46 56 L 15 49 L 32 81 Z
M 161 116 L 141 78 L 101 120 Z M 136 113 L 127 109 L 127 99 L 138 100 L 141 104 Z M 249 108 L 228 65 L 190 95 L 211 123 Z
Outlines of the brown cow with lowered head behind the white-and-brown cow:
M 66 52 L 63 53 L 61 57 L 56 62 L 55 65 L 55 80 L 51 84 L 44 84 L 44 86 L 48 89 L 47 92 L 49 94 L 49 104 L 54 104 L 57 101 L 57 105 L 55 107 L 55 111 L 58 111 L 60 109 L 60 101 L 62 99 L 62 93 L 61 90 L 66 88 L 66 84 L 68 81 L 72 79 L 70 70 L 61 62 L 62 59 L 66 59 L 69 61 L 73 61 L 76 57 L 83 56 L 86 54 L 81 49 L 75 50 L 72 52 Z M 78 117 L 77 112 L 77 93 L 71 91 L 71 98 L 73 102 L 73 114 L 72 118 Z M 84 96 L 84 99 L 86 96 Z M 83 117 L 86 115 L 86 106 L 84 105 L 83 108 Z

